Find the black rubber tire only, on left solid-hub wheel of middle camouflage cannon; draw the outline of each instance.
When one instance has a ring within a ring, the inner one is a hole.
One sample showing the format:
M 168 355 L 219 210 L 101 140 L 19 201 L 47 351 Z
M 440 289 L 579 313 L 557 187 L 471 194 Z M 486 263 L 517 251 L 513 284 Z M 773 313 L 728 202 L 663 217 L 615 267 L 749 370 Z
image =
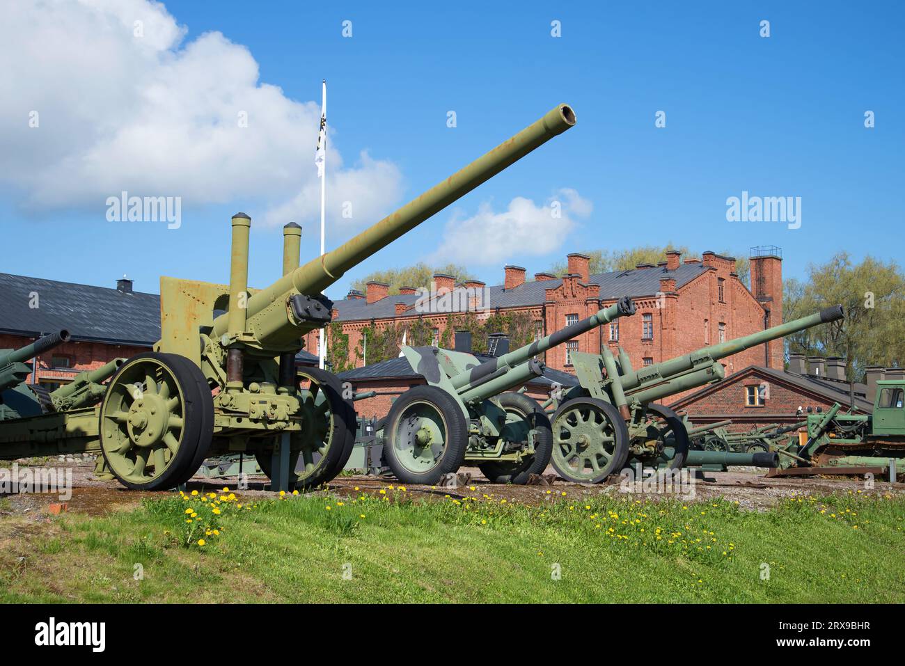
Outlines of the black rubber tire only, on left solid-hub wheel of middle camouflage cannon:
M 405 469 L 396 458 L 395 446 L 392 441 L 399 417 L 406 407 L 418 401 L 432 404 L 446 422 L 446 447 L 440 462 L 431 470 L 420 473 Z M 437 386 L 413 386 L 403 395 L 396 398 L 390 407 L 390 411 L 386 414 L 384 460 L 396 480 L 403 483 L 435 485 L 444 474 L 458 471 L 462 467 L 467 446 L 468 422 L 465 420 L 465 414 L 462 413 L 462 407 L 452 395 Z

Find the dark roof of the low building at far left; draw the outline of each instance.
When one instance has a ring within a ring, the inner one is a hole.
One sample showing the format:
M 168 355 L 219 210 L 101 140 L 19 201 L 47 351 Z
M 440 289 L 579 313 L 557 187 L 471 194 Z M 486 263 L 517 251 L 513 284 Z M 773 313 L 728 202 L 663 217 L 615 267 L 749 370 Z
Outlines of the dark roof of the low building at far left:
M 36 336 L 61 328 L 75 339 L 149 347 L 160 339 L 160 297 L 0 273 L 0 330 Z

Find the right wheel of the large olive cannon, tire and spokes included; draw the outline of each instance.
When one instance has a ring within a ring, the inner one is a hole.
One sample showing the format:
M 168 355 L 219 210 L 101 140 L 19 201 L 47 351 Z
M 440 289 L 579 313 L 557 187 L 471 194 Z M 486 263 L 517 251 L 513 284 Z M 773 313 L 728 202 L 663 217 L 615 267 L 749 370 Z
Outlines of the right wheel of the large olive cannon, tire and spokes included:
M 291 436 L 289 481 L 307 490 L 332 480 L 346 466 L 355 446 L 357 421 L 337 376 L 317 367 L 299 370 L 297 376 L 308 387 L 299 392 L 302 430 Z M 258 466 L 271 479 L 272 456 L 272 445 L 255 452 Z

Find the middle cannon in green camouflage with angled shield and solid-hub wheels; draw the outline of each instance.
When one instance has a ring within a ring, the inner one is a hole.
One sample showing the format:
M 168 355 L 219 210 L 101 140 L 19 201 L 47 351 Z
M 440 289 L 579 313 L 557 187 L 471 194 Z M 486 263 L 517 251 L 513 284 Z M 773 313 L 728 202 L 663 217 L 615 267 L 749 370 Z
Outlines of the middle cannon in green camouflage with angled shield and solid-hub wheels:
M 405 483 L 437 483 L 463 463 L 491 482 L 525 483 L 547 468 L 552 434 L 547 415 L 528 395 L 512 392 L 543 374 L 534 359 L 618 317 L 634 314 L 620 299 L 595 315 L 484 363 L 463 351 L 403 347 L 427 385 L 410 388 L 383 423 L 384 460 Z

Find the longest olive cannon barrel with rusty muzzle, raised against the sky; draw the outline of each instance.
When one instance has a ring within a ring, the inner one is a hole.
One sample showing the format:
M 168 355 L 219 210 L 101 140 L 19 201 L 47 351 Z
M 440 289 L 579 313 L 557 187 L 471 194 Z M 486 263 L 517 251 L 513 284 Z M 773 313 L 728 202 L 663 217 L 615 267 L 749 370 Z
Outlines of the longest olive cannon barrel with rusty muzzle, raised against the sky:
M 565 132 L 575 125 L 575 112 L 567 104 L 558 104 L 549 110 L 543 118 L 529 127 L 522 129 L 517 135 L 493 148 L 486 155 L 474 160 L 470 165 L 452 174 L 443 182 L 404 205 L 395 213 L 386 216 L 364 232 L 359 233 L 336 250 L 327 252 L 317 259 L 300 266 L 284 275 L 270 287 L 255 293 L 246 303 L 245 315 L 252 319 L 268 309 L 271 304 L 286 300 L 297 294 L 317 295 L 338 281 L 345 271 L 363 262 L 367 257 L 386 247 L 424 220 L 451 205 L 457 199 L 467 195 L 481 183 L 496 176 L 507 166 L 525 157 L 532 150 L 547 143 L 551 138 Z M 281 318 L 267 317 L 257 322 L 257 335 L 267 338 L 280 332 L 286 326 L 284 309 Z M 220 337 L 228 329 L 228 313 L 214 319 L 214 336 Z

